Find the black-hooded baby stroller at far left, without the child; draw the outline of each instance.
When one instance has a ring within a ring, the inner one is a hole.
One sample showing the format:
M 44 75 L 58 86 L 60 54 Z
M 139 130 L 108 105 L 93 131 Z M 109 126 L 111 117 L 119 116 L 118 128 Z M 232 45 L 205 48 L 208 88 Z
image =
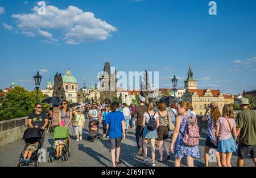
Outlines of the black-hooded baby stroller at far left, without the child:
M 30 166 L 31 163 L 32 163 L 32 166 L 34 167 L 39 166 L 38 158 L 40 153 L 38 152 L 38 150 L 41 149 L 41 143 L 40 143 L 41 138 L 42 138 L 42 134 L 38 128 L 28 128 L 25 130 L 22 138 L 25 141 L 25 146 L 24 146 L 24 150 L 20 154 L 18 167 Z M 30 146 L 30 144 L 34 144 L 36 142 L 39 142 L 37 149 L 32 153 L 30 157 L 30 161 L 25 163 L 23 158 L 24 152 L 26 151 L 28 146 Z

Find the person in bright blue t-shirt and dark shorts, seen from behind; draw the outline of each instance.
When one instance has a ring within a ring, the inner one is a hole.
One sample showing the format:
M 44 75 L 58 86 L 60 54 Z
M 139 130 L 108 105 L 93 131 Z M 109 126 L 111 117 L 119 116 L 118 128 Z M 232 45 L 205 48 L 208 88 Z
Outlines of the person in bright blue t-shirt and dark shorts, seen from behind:
M 118 103 L 113 102 L 111 105 L 111 110 L 106 117 L 106 128 L 109 132 L 109 142 L 110 142 L 110 151 L 112 166 L 115 167 L 121 163 L 119 155 L 121 152 L 120 143 L 122 139 L 125 139 L 125 117 L 123 113 L 117 111 Z M 115 158 L 115 154 L 117 154 Z

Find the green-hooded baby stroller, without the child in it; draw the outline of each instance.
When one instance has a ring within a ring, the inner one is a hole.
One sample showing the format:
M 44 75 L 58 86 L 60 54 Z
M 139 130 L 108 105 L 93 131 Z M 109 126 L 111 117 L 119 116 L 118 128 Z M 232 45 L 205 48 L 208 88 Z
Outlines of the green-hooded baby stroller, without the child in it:
M 63 161 L 68 160 L 68 156 L 71 156 L 71 152 L 69 152 L 69 142 L 68 142 L 68 128 L 64 126 L 58 126 L 54 129 L 53 132 L 53 146 L 52 146 L 52 151 L 49 154 L 49 162 L 53 162 L 54 160 L 57 159 L 62 159 Z M 56 157 L 56 141 L 63 142 L 63 148 L 62 148 L 62 154 L 59 157 Z

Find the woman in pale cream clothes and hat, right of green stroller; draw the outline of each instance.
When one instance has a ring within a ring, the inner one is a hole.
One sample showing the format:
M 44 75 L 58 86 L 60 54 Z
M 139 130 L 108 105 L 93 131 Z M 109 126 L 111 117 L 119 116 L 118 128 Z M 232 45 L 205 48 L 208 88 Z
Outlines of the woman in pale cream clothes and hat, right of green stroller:
M 75 115 L 75 121 L 73 122 L 73 126 L 75 128 L 76 141 L 82 140 L 82 129 L 84 129 L 85 118 L 82 114 L 82 109 L 77 109 L 72 112 Z

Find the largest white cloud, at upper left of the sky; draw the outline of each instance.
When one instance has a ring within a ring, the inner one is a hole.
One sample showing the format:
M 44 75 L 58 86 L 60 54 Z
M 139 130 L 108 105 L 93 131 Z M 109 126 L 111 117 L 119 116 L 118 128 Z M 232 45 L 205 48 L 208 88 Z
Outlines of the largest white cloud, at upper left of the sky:
M 18 22 L 17 27 L 51 40 L 53 34 L 49 30 L 60 31 L 59 34 L 64 34 L 60 38 L 71 45 L 106 40 L 112 36 L 112 32 L 117 31 L 117 28 L 104 20 L 95 18 L 92 12 L 84 12 L 75 6 L 69 6 L 64 10 L 46 6 L 46 15 L 39 15 L 38 8 L 35 6 L 31 14 L 13 14 L 12 17 Z

